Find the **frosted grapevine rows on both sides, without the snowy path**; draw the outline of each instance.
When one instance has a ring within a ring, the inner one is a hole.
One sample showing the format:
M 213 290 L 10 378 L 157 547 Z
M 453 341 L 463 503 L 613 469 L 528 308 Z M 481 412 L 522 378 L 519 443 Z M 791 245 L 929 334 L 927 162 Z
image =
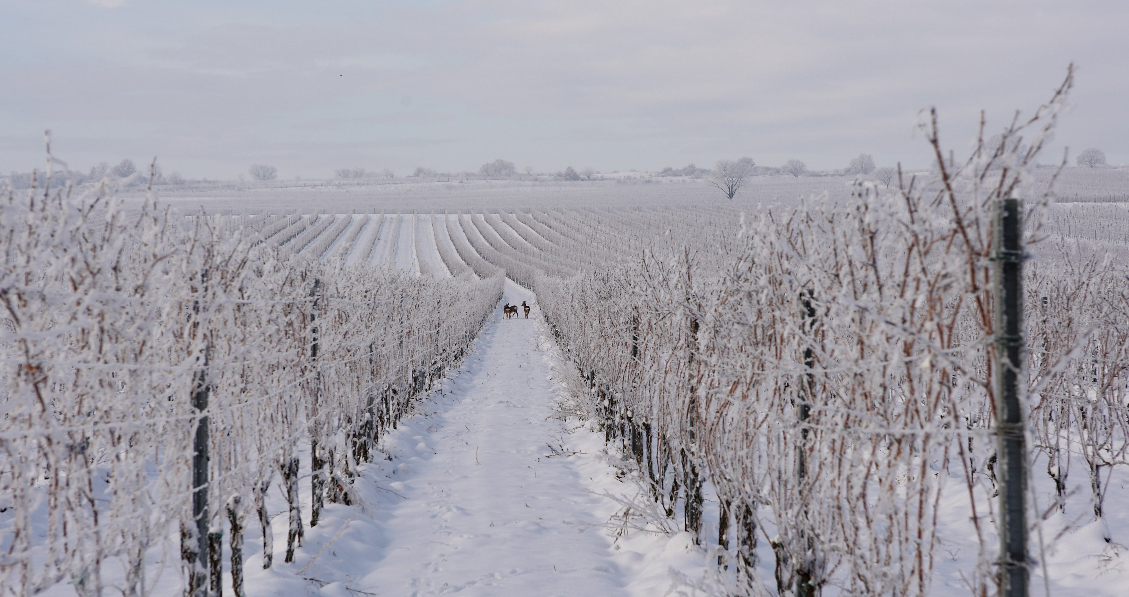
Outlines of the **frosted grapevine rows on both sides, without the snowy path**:
M 324 502 L 356 501 L 359 463 L 461 362 L 509 278 L 535 291 L 584 380 L 562 409 L 633 468 L 666 519 L 647 524 L 715 538 L 732 594 L 928 595 L 952 558 L 987 595 L 1003 199 L 1026 200 L 1035 257 L 1023 282 L 1029 521 L 1077 503 L 1104 520 L 1114 473 L 1129 471 L 1129 210 L 1025 195 L 1029 148 L 1056 109 L 934 179 L 745 213 L 204 214 L 124 209 L 110 186 L 9 191 L 3 591 L 65 581 L 100 595 L 117 559 L 121 591 L 142 595 L 147 554 L 170 529 L 190 590 L 219 590 L 225 569 L 242 583 L 248 519 L 271 564 L 277 479 L 292 559 L 298 479 L 312 479 L 309 525 Z M 1029 146 L 1007 142 L 1021 133 Z M 1071 475 L 1088 495 L 1067 491 Z M 1053 541 L 1040 535 L 1035 560 Z M 774 561 L 761 561 L 763 542 Z

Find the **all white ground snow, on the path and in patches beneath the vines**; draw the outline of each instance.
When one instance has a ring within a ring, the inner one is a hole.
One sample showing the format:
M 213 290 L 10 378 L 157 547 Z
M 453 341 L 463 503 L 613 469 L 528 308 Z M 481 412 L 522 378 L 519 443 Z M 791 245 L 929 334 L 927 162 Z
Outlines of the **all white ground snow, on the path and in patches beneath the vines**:
M 575 374 L 558 358 L 533 293 L 507 281 L 505 300 L 533 304 L 531 318 L 504 319 L 499 306 L 463 366 L 385 436 L 387 459 L 360 466 L 356 491 L 362 503 L 326 504 L 322 523 L 312 528 L 309 477 L 301 479 L 306 535 L 292 563 L 283 562 L 287 517 L 275 476 L 268 500 L 274 564 L 262 568 L 262 536 L 251 513 L 245 534 L 248 596 L 724 595 L 708 580 L 715 569 L 711 556 L 692 546 L 688 534 L 615 536 L 607 523 L 620 504 L 604 494 L 630 498 L 637 489 L 630 476 L 621 481 L 607 464 L 602 434 L 554 416 L 553 403 L 563 392 L 554 379 Z M 303 471 L 309 469 L 308 448 L 299 445 Z M 1047 477 L 1038 473 L 1044 464 L 1040 458 L 1033 463 L 1040 509 L 1049 506 Z M 1066 515 L 1056 513 L 1043 525 L 1047 543 L 1053 544 L 1045 558 L 1050 594 L 1124 595 L 1129 474 L 1118 469 L 1111 479 L 1106 530 L 1092 521 L 1083 463 L 1074 467 Z M 704 493 L 703 539 L 712 545 L 717 507 L 708 484 Z M 942 544 L 931 595 L 969 595 L 962 573 L 974 565 L 977 547 L 966 500 L 953 485 L 939 504 Z M 978 499 L 978 506 L 986 509 L 986 501 Z M 1056 541 L 1064 528 L 1069 532 Z M 995 541 L 990 529 L 987 535 Z M 150 595 L 183 592 L 177 541 L 170 529 L 165 544 L 150 550 Z M 758 552 L 760 572 L 771 579 L 773 556 L 763 537 Z M 1032 537 L 1032 554 L 1042 560 L 1038 536 Z M 227 595 L 229 558 L 225 539 Z M 1032 572 L 1032 595 L 1043 595 L 1042 567 Z M 103 578 L 110 586 L 120 583 L 116 559 L 105 561 Z M 686 582 L 712 589 L 695 592 Z M 64 581 L 43 595 L 71 596 L 75 589 Z M 829 587 L 824 595 L 838 591 Z

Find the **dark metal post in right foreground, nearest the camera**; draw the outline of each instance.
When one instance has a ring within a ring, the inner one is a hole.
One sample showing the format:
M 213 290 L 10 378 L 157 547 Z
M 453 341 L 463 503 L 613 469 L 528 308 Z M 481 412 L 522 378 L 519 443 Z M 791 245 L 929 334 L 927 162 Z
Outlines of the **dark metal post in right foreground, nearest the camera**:
M 996 207 L 995 326 L 996 438 L 999 454 L 1000 595 L 1026 597 L 1027 455 L 1019 384 L 1023 381 L 1023 204 L 1005 199 Z

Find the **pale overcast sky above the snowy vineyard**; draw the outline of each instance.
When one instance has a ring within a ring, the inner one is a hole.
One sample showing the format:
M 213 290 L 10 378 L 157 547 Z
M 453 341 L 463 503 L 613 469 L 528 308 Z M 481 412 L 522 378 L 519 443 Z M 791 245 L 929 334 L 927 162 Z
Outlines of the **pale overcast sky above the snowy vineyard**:
M 0 0 L 0 170 L 927 164 L 1079 71 L 1053 153 L 1129 163 L 1129 2 Z

